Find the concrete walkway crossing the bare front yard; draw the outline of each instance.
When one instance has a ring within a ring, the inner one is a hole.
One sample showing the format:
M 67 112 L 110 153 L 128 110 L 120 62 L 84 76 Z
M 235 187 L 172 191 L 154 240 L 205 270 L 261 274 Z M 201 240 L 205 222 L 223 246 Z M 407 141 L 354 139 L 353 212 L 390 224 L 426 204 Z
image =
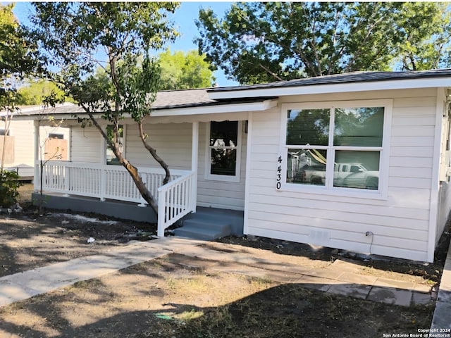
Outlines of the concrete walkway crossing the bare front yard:
M 100 277 L 130 265 L 178 253 L 173 260 L 180 265 L 239 273 L 285 283 L 298 283 L 323 292 L 352 296 L 399 306 L 431 303 L 430 288 L 424 284 L 363 275 L 361 265 L 337 260 L 324 268 L 290 263 L 292 256 L 283 256 L 261 249 L 230 244 L 211 243 L 165 237 L 150 242 L 133 242 L 102 255 L 86 256 L 62 263 L 16 273 L 0 278 L 0 306 L 66 287 L 80 280 Z M 448 253 L 433 325 L 450 327 L 451 254 Z M 446 311 L 446 312 L 444 312 Z

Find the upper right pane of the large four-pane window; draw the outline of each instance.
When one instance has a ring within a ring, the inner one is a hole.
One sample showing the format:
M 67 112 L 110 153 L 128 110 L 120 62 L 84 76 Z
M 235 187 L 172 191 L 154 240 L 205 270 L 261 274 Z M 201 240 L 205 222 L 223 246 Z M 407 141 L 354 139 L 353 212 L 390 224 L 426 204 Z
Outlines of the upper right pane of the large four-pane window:
M 336 108 L 334 146 L 382 146 L 383 107 Z

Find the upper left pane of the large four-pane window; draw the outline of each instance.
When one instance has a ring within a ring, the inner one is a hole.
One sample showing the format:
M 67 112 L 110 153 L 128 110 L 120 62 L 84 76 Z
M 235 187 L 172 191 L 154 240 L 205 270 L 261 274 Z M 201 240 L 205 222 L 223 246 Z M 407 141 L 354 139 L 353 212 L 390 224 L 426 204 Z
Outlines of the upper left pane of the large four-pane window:
M 289 110 L 288 145 L 326 146 L 329 139 L 330 109 Z

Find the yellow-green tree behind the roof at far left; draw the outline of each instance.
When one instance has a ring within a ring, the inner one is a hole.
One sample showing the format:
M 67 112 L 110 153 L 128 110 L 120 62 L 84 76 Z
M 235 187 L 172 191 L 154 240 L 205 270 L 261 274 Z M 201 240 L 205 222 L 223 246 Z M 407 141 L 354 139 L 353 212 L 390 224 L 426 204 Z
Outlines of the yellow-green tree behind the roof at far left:
M 27 85 L 17 90 L 17 104 L 24 106 L 33 106 L 42 104 L 45 97 L 50 96 L 54 92 L 57 96 L 64 96 L 64 92 L 58 88 L 54 82 L 47 80 L 30 81 Z M 66 99 L 73 101 L 73 99 Z

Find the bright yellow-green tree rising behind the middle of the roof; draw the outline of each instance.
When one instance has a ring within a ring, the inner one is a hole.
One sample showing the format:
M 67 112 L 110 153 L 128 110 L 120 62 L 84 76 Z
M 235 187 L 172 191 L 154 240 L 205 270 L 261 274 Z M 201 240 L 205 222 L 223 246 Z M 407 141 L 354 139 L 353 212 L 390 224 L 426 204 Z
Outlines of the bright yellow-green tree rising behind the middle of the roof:
M 212 87 L 216 80 L 211 65 L 205 61 L 205 55 L 197 51 L 175 51 L 169 49 L 158 56 L 161 67 L 161 90 L 194 89 Z

